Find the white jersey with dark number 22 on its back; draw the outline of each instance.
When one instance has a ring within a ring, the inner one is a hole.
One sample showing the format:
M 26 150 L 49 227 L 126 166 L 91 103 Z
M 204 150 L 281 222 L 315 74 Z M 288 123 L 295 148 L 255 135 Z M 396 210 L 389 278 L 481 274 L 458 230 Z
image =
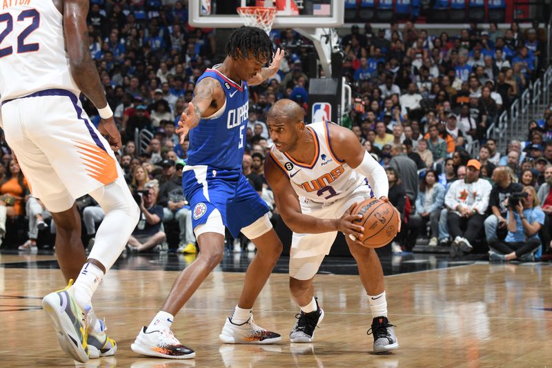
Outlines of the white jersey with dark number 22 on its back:
M 52 0 L 3 0 L 0 32 L 2 101 L 53 88 L 80 94 L 65 50 L 63 15 Z

